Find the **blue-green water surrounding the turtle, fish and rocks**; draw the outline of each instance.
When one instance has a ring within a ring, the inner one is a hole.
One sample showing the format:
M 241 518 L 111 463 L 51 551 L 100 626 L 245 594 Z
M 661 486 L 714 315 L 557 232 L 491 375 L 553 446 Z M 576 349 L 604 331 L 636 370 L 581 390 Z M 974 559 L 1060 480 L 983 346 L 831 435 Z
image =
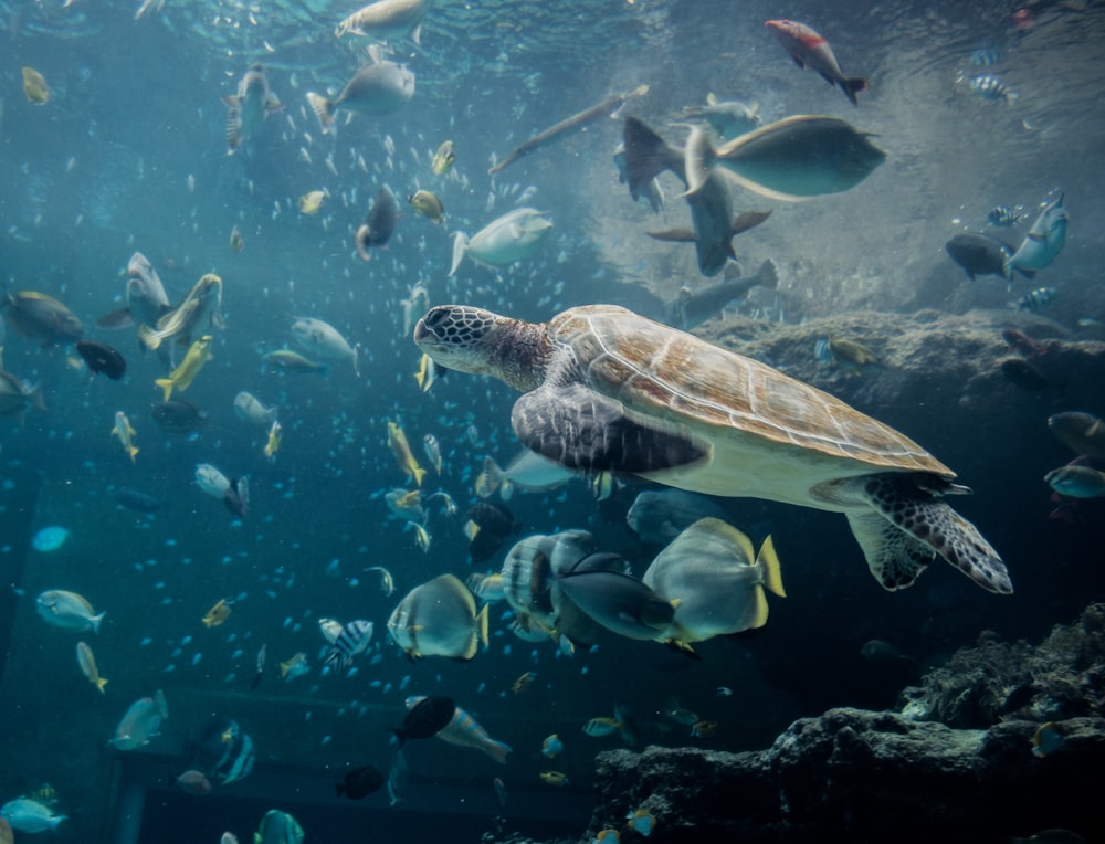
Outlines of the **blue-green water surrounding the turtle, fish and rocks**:
M 20 337 L 10 325 L 4 331 L 2 369 L 41 384 L 49 410 L 0 419 L 7 652 L 0 802 L 50 783 L 56 811 L 69 816 L 53 837 L 109 840 L 112 772 L 124 751 L 107 742 L 127 707 L 156 689 L 169 717 L 160 736 L 129 752 L 185 770 L 212 718 L 225 716 L 252 737 L 259 771 L 285 769 L 293 781 L 299 771 L 327 787 L 350 766 L 387 771 L 393 752 L 387 730 L 402 720 L 404 698 L 443 694 L 513 753 L 504 766 L 436 740 L 410 742 L 411 781 L 421 789 L 396 813 L 418 812 L 418 801 L 449 811 L 446 787 L 460 783 L 486 802 L 482 830 L 455 838 L 476 840 L 511 831 L 512 805 L 524 817 L 525 801 L 571 794 L 579 802 L 565 803 L 560 822 L 549 820 L 544 831 L 582 833 L 594 755 L 622 741 L 617 731 L 594 737 L 581 728 L 615 707 L 632 709 L 638 746 L 762 748 L 796 718 L 828 707 L 894 707 L 904 686 L 986 630 L 1035 641 L 1103 599 L 1101 499 L 1080 500 L 1073 518 L 1050 518 L 1056 505 L 1042 481 L 1074 456 L 1049 433 L 1049 415 L 1105 413 L 1099 379 L 1042 389 L 1003 383 L 964 407 L 967 361 L 954 355 L 966 347 L 935 340 L 927 369 L 913 363 L 916 391 L 888 404 L 878 401 L 885 372 L 830 371 L 817 361 L 814 344 L 803 341 L 768 362 L 801 361 L 810 373 L 804 380 L 842 394 L 953 467 L 975 492 L 956 507 L 1001 552 L 1013 595 L 985 592 L 939 561 L 913 588 L 886 592 L 840 516 L 719 499 L 757 547 L 770 535 L 781 560 L 788 597 L 770 599 L 770 620 L 757 635 L 701 643 L 701 661 L 612 634 L 569 656 L 551 642 L 515 637 L 505 604 L 495 603 L 491 644 L 471 662 L 404 658 L 387 632 L 399 599 L 445 572 L 464 580 L 497 571 L 523 536 L 590 530 L 638 574 L 657 551 L 629 528 L 625 513 L 638 493 L 659 486 L 619 478 L 597 500 L 578 478 L 548 493 L 516 492 L 505 503 L 516 535 L 492 559 L 470 561 L 464 514 L 477 500 L 473 485 L 484 458 L 505 466 L 520 450 L 509 425 L 517 393 L 462 373 L 422 391 L 414 378 L 420 351 L 402 330 L 401 302 L 411 288 L 425 285 L 431 304 L 473 304 L 543 321 L 600 302 L 659 317 L 681 286 L 705 281 L 694 250 L 644 235 L 686 224 L 683 188 L 664 177 L 660 217 L 630 199 L 612 159 L 621 120 L 603 117 L 492 177 L 494 161 L 530 135 L 642 84 L 648 94 L 620 116 L 639 116 L 671 139 L 681 137 L 673 124 L 684 120 L 683 108 L 709 94 L 758 104 L 765 124 L 794 114 L 842 117 L 887 155 L 859 187 L 803 203 L 734 188 L 738 211 L 772 210 L 767 223 L 735 241 L 740 264 L 748 273 L 771 259 L 780 276 L 774 295 L 734 308 L 730 316 L 739 312 L 747 320 L 739 325 L 824 320 L 846 326 L 856 340 L 881 333 L 892 342 L 893 328 L 872 312 L 924 312 L 935 334 L 957 317 L 989 314 L 977 325 L 1020 319 L 1009 303 L 1046 285 L 1055 288 L 1053 300 L 1029 315 L 1032 326 L 1085 344 L 1099 359 L 1105 4 L 438 0 L 419 44 L 390 39 L 390 59 L 414 73 L 412 99 L 393 114 L 354 114 L 348 122 L 339 110 L 336 131 L 324 135 L 305 95 L 337 94 L 367 61 L 369 39 L 334 34 L 354 11 L 320 0 L 143 7 L 0 0 L 0 278 L 10 292 L 63 302 L 86 338 L 110 344 L 128 362 L 120 382 L 93 378 L 71 345 Z M 780 50 L 764 21 L 782 17 L 824 34 L 844 71 L 869 78 L 857 107 Z M 228 155 L 220 101 L 257 61 L 283 108 Z M 24 65 L 42 74 L 49 102 L 24 96 Z M 1014 95 L 980 96 L 971 78 L 983 74 L 999 76 Z M 430 161 L 444 140 L 453 141 L 456 162 L 439 176 Z M 385 184 L 400 219 L 366 263 L 352 233 Z M 418 189 L 441 198 L 442 225 L 407 203 Z M 299 198 L 315 190 L 328 193 L 322 209 L 301 213 Z M 1019 239 L 1042 203 L 1060 194 L 1071 217 L 1067 243 L 1035 281 L 969 282 L 946 254 L 955 234 L 992 231 L 987 214 L 996 205 L 1027 209 L 1015 234 L 999 232 Z M 471 236 L 520 205 L 552 221 L 534 256 L 497 268 L 465 260 L 449 276 L 455 232 Z M 187 391 L 207 413 L 192 434 L 164 431 L 150 416 L 160 395 L 154 380 L 166 371 L 159 358 L 140 351 L 133 329 L 96 326 L 125 304 L 125 267 L 136 251 L 173 303 L 206 273 L 223 279 L 225 327 Z M 329 361 L 326 377 L 267 371 L 266 352 L 296 348 L 290 326 L 297 317 L 326 320 L 358 345 L 359 372 L 347 360 Z M 699 333 L 739 342 L 759 330 L 734 337 L 725 330 L 732 324 L 718 319 Z M 993 342 L 1001 342 L 998 330 Z M 788 371 L 799 374 L 798 367 Z M 278 407 L 283 441 L 271 460 L 267 428 L 234 413 L 242 390 Z M 118 411 L 136 430 L 133 461 L 112 436 Z M 391 489 L 411 488 L 387 444 L 389 421 L 401 424 L 420 460 L 422 437 L 436 437 L 442 472 L 431 472 L 423 488 L 441 488 L 459 506 L 455 516 L 428 507 L 424 550 L 385 500 Z M 200 490 L 199 463 L 249 477 L 244 517 Z M 124 489 L 162 506 L 137 513 L 119 504 Z M 32 538 L 50 526 L 67 531 L 64 542 L 36 550 Z M 381 590 L 371 567 L 390 571 L 393 594 Z M 35 597 L 50 589 L 72 590 L 106 611 L 98 634 L 48 625 Z M 220 599 L 233 599 L 230 618 L 204 626 L 201 619 Z M 373 622 L 369 653 L 357 658 L 354 676 L 322 671 L 320 618 Z M 103 694 L 81 676 L 77 641 L 94 648 L 109 679 Z M 865 651 L 873 641 L 892 650 Z M 267 666 L 252 689 L 262 644 Z M 275 666 L 299 652 L 311 669 L 283 681 Z M 515 693 L 527 672 L 532 684 Z M 672 717 L 681 709 L 715 722 L 715 731 L 692 738 L 690 725 Z M 552 734 L 565 750 L 548 759 L 541 747 Z M 543 782 L 540 774 L 554 769 L 568 785 Z M 495 778 L 518 795 L 505 808 Z M 250 781 L 218 791 L 233 794 Z M 267 808 L 280 808 L 284 792 L 273 788 Z M 196 796 L 187 811 L 194 830 L 178 822 L 149 840 L 213 842 L 224 829 L 248 837 L 264 811 L 231 825 L 214 809 L 204 816 L 202 801 Z M 388 803 L 383 792 L 368 801 L 381 811 Z M 379 816 L 373 841 L 389 837 L 380 825 L 388 815 Z M 303 823 L 308 838 L 322 840 L 317 826 Z M 443 822 L 407 837 L 434 833 L 451 836 Z M 338 827 L 325 837 L 367 835 Z

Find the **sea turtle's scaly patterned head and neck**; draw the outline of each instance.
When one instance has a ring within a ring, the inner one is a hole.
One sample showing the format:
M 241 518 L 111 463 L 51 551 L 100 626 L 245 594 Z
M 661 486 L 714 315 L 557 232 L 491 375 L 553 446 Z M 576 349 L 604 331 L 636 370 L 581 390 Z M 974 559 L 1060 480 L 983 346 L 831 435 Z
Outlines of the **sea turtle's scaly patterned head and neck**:
M 533 390 L 545 377 L 546 327 L 483 308 L 432 307 L 414 326 L 414 342 L 440 367 L 493 376 L 516 390 Z

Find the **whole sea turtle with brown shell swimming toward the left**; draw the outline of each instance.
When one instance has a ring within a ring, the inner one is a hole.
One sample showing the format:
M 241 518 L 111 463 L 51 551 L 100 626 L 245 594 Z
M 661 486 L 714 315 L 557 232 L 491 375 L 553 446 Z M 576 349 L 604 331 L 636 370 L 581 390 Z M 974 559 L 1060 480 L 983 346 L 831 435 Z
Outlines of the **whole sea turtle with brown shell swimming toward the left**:
M 585 471 L 843 513 L 886 589 L 939 553 L 991 592 L 997 551 L 940 498 L 969 492 L 903 434 L 750 358 L 613 305 L 524 323 L 432 308 L 414 341 L 435 362 L 525 393 L 511 424 L 529 449 Z

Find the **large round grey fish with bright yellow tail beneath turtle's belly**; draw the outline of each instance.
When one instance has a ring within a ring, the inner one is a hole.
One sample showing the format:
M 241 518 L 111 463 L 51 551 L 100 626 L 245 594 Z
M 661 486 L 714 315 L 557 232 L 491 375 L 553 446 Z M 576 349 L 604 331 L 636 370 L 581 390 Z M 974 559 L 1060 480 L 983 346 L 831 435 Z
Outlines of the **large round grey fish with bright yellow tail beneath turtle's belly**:
M 761 627 L 765 588 L 786 595 L 771 538 L 756 555 L 747 536 L 711 517 L 675 537 L 641 581 L 675 604 L 671 626 L 657 639 L 681 645 Z

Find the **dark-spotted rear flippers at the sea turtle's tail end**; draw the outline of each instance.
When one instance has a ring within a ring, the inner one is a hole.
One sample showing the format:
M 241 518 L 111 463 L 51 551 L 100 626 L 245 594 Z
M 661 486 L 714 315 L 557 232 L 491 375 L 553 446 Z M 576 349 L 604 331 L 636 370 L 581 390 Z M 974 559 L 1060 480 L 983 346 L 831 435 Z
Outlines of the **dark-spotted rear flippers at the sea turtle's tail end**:
M 932 479 L 940 483 L 938 478 Z M 1013 584 L 998 552 L 978 528 L 937 497 L 939 492 L 919 485 L 917 475 L 871 475 L 857 481 L 863 498 L 875 513 L 913 540 L 894 541 L 885 530 L 876 530 L 869 524 L 864 514 L 848 514 L 867 565 L 884 587 L 909 585 L 935 551 L 982 589 L 1012 593 Z M 948 490 L 955 489 L 950 484 L 944 485 Z M 924 562 L 919 562 L 922 558 Z M 903 577 L 907 578 L 905 582 L 899 581 Z

